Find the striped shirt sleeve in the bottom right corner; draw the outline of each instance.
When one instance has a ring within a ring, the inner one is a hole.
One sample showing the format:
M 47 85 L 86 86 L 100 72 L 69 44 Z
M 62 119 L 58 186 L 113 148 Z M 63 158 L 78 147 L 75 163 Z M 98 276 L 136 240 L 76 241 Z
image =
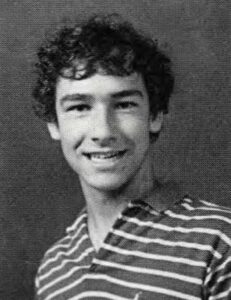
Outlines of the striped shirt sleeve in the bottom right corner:
M 208 300 L 231 299 L 231 248 L 222 255 L 219 262 L 210 269 L 205 280 Z

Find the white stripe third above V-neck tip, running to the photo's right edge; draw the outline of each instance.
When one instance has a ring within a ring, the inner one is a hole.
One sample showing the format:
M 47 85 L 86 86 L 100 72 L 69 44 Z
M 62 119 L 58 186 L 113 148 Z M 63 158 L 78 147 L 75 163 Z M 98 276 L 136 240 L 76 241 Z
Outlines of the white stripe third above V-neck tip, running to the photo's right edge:
M 223 232 L 221 232 L 220 230 L 217 230 L 217 229 L 209 229 L 209 228 L 203 228 L 203 227 L 194 227 L 194 228 L 170 227 L 167 225 L 154 223 L 152 221 L 140 221 L 137 218 L 130 218 L 130 217 L 126 217 L 126 216 L 123 216 L 122 220 L 137 224 L 139 226 L 147 226 L 150 228 L 160 229 L 160 230 L 170 231 L 170 232 L 171 231 L 176 231 L 176 232 L 181 232 L 181 233 L 196 232 L 196 233 L 202 233 L 202 234 L 206 233 L 206 234 L 210 234 L 210 235 L 217 235 L 224 242 L 226 242 L 229 246 L 231 246 L 231 239 L 226 234 L 224 234 Z

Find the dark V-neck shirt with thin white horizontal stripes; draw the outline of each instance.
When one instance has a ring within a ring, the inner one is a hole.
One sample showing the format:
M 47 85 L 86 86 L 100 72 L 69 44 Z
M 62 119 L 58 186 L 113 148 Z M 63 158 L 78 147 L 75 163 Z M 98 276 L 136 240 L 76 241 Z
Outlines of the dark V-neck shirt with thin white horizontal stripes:
M 45 254 L 39 300 L 231 299 L 231 210 L 185 197 L 130 202 L 96 253 L 82 211 Z

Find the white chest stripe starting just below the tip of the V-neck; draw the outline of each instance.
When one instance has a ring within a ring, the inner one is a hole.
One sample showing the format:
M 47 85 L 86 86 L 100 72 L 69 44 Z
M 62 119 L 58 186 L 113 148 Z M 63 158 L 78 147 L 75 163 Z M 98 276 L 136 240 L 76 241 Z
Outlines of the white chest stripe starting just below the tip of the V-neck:
M 106 267 L 112 267 L 112 268 L 117 268 L 117 269 L 122 269 L 130 272 L 135 272 L 135 273 L 142 273 L 142 274 L 149 274 L 149 275 L 156 275 L 156 276 L 162 276 L 162 277 L 168 277 L 172 279 L 178 279 L 181 281 L 186 281 L 194 284 L 202 284 L 202 280 L 200 278 L 196 277 L 191 277 L 191 276 L 186 276 L 186 275 L 181 275 L 175 272 L 166 272 L 162 270 L 157 270 L 157 269 L 148 269 L 148 268 L 141 268 L 141 267 L 133 267 L 133 266 L 128 266 L 125 264 L 119 264 L 119 263 L 114 263 L 114 262 L 108 262 L 105 260 L 100 260 L 100 259 L 94 259 L 94 263 L 97 263 L 101 266 L 106 266 Z

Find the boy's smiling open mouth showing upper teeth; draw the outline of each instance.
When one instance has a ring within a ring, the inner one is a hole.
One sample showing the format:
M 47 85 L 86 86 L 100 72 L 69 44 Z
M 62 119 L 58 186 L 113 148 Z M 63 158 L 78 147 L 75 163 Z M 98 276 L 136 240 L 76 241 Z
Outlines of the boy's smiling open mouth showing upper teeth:
M 116 161 L 124 156 L 127 150 L 122 151 L 97 151 L 83 153 L 89 160 L 94 162 Z

